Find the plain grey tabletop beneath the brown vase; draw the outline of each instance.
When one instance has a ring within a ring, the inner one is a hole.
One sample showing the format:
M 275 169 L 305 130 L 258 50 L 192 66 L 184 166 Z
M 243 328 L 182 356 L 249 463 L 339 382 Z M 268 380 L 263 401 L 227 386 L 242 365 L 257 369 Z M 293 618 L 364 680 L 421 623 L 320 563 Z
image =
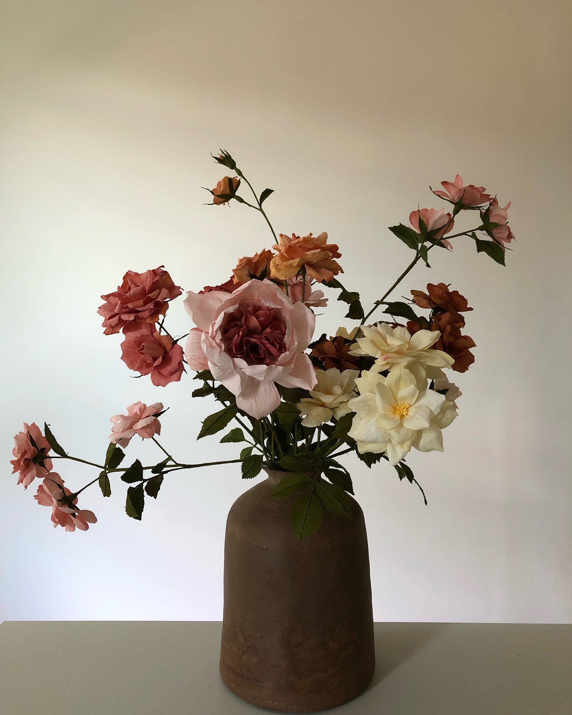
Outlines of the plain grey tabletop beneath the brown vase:
M 243 715 L 220 623 L 5 621 L 1 715 Z M 572 625 L 376 623 L 377 669 L 340 715 L 571 715 Z

